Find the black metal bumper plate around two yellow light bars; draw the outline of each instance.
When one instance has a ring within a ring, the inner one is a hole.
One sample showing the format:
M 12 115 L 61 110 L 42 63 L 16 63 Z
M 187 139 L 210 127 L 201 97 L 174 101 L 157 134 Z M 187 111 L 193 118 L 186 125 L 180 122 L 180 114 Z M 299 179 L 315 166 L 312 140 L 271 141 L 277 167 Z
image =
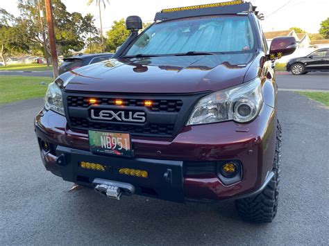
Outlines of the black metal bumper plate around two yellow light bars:
M 137 195 L 146 195 L 173 202 L 184 202 L 183 161 L 143 158 L 117 158 L 94 155 L 85 150 L 58 146 L 56 149 L 60 176 L 69 182 L 92 186 L 98 179 L 131 184 Z M 81 168 L 81 161 L 106 166 L 106 171 Z M 60 165 L 59 163 L 60 162 Z M 120 168 L 146 170 L 147 178 L 121 175 Z

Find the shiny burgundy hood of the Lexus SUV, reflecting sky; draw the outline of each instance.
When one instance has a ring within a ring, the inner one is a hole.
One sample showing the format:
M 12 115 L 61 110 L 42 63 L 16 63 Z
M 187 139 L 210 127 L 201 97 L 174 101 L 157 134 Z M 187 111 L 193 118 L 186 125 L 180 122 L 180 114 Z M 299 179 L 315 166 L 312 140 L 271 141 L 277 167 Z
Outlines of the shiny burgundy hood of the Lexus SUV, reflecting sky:
M 253 53 L 120 58 L 64 73 L 69 91 L 193 93 L 244 82 Z

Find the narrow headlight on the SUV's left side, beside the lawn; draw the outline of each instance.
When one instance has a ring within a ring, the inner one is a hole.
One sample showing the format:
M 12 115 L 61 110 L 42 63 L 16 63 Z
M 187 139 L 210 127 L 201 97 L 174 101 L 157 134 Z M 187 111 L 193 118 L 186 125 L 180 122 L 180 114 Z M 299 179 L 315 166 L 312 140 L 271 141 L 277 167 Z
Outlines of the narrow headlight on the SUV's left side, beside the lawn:
M 62 91 L 56 82 L 49 84 L 46 96 L 44 97 L 44 108 L 53 110 L 58 114 L 65 115 L 62 101 Z

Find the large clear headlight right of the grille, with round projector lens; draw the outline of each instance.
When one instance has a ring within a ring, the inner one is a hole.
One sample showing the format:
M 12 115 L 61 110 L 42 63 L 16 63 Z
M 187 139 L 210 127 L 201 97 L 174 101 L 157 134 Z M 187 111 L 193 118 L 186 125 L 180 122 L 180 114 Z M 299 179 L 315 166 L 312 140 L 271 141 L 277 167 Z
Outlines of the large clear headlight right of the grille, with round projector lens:
M 262 103 L 262 83 L 256 78 L 251 82 L 216 91 L 201 98 L 194 107 L 187 125 L 230 120 L 246 123 L 258 115 Z

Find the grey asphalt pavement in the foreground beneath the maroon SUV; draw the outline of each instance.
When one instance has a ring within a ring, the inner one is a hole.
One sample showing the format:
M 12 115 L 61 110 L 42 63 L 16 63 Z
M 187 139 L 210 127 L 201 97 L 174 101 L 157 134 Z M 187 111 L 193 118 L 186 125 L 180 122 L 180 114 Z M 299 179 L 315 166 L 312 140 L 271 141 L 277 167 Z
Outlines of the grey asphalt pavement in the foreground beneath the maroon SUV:
M 278 215 L 243 222 L 234 202 L 108 200 L 42 166 L 33 116 L 42 99 L 0 106 L 0 245 L 328 245 L 329 110 L 280 91 L 283 128 Z

